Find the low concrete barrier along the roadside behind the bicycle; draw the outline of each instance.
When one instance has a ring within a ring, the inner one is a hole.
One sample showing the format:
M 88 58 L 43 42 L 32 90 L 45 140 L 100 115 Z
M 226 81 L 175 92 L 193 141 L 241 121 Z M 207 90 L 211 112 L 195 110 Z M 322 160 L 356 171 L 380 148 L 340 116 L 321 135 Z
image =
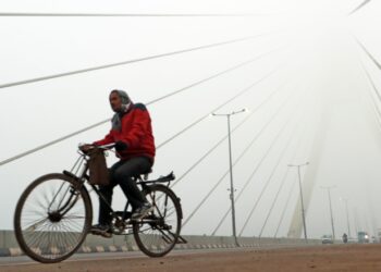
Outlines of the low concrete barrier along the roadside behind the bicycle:
M 185 235 L 187 243 L 177 244 L 175 249 L 213 249 L 213 248 L 234 248 L 236 247 L 232 236 L 206 236 L 206 235 Z M 287 247 L 305 246 L 304 239 L 288 238 L 268 238 L 268 237 L 239 237 L 237 238 L 239 247 L 247 248 L 268 248 L 268 247 Z M 320 239 L 309 239 L 308 245 L 321 245 Z M 53 248 L 51 251 L 56 250 Z M 102 238 L 100 236 L 87 235 L 86 240 L 78 249 L 78 252 L 118 252 L 118 251 L 137 251 L 133 235 L 114 235 L 112 238 Z M 22 250 L 19 247 L 13 231 L 0 231 L 0 257 L 21 256 Z

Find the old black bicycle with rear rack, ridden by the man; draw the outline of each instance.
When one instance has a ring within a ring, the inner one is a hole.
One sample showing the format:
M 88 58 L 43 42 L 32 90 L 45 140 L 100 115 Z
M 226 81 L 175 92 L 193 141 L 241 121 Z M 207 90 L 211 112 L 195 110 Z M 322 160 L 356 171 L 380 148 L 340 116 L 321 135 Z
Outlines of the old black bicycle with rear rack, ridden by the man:
M 105 145 L 101 150 L 110 150 Z M 21 249 L 32 259 L 42 263 L 60 262 L 72 256 L 84 243 L 93 222 L 93 203 L 86 184 L 89 182 L 86 152 L 71 171 L 52 173 L 35 180 L 21 195 L 14 214 L 15 236 Z M 74 173 L 73 173 L 74 171 Z M 144 173 L 143 173 L 144 174 Z M 180 198 L 170 189 L 173 172 L 147 181 L 143 174 L 135 176 L 143 194 L 153 210 L 139 221 L 131 220 L 132 207 L 126 201 L 123 211 L 111 210 L 113 235 L 133 233 L 138 248 L 149 257 L 162 257 L 175 244 L 186 243 L 180 236 L 183 219 Z M 106 201 L 99 188 L 93 190 Z

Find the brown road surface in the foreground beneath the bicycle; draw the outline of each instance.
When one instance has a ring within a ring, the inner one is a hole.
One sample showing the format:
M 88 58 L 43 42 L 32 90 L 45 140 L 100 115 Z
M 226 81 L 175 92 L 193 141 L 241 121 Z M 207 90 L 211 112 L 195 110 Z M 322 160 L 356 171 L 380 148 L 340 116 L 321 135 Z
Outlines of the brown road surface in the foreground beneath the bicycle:
M 95 257 L 95 258 L 94 258 Z M 1 272 L 145 272 L 145 271 L 381 271 L 381 245 L 322 245 L 283 249 L 174 251 L 164 258 L 111 254 L 73 257 L 56 264 L 0 264 Z

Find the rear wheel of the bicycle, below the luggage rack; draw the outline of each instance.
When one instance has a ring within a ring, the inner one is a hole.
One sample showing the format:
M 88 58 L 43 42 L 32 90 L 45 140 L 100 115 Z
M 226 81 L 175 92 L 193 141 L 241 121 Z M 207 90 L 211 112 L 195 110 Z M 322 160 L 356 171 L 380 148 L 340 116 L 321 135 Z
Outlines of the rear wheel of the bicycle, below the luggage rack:
M 142 222 L 134 223 L 134 237 L 144 254 L 162 257 L 177 243 L 182 221 L 180 200 L 162 185 L 149 186 L 144 194 L 153 210 Z

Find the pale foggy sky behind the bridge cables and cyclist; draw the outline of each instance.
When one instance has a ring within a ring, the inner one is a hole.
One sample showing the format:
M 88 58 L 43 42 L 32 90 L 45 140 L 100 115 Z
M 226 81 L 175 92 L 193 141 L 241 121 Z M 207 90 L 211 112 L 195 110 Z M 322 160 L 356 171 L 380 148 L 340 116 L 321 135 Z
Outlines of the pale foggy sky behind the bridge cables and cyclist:
M 348 199 L 352 233 L 381 227 L 380 143 L 371 99 L 377 99 L 359 64 L 362 60 L 381 88 L 380 71 L 359 49 L 355 35 L 381 61 L 378 1 L 346 14 L 361 1 L 3 1 L 1 12 L 86 13 L 260 13 L 253 17 L 0 17 L 0 85 L 45 75 L 143 58 L 250 35 L 260 38 L 107 70 L 0 89 L 0 161 L 111 118 L 109 91 L 125 89 L 136 102 L 148 102 L 207 78 L 265 52 L 280 49 L 238 70 L 149 106 L 156 144 L 183 129 L 268 73 L 271 76 L 228 103 L 219 112 L 248 108 L 232 118 L 247 122 L 232 135 L 236 225 L 243 235 L 258 236 L 285 174 L 262 236 L 273 236 L 288 194 L 278 236 L 285 236 L 298 199 L 295 169 L 311 158 L 324 112 L 329 124 L 320 150 L 316 184 L 307 210 L 310 237 L 331 233 L 327 191 L 332 189 L 335 232 L 347 231 L 343 198 Z M 278 69 L 281 66 L 280 69 Z M 278 69 L 278 70 L 276 70 Z M 273 95 L 272 95 L 273 94 Z M 369 95 L 370 94 L 370 95 Z M 380 101 L 377 102 L 380 106 Z M 276 114 L 279 112 L 279 114 Z M 269 120 L 272 122 L 266 126 Z M 251 140 L 266 126 L 263 133 Z M 0 166 L 0 228 L 12 228 L 13 211 L 23 189 L 38 176 L 70 169 L 78 143 L 102 138 L 107 123 L 89 132 Z M 174 171 L 181 176 L 226 135 L 226 121 L 208 118 L 158 149 L 152 177 Z M 276 137 L 280 135 L 279 137 Z M 271 146 L 271 144 L 273 146 Z M 250 146 L 249 146 L 250 145 Z M 270 148 L 271 147 L 271 148 Z M 268 157 L 263 161 L 265 153 Z M 282 157 L 281 157 L 282 154 Z M 174 187 L 184 219 L 229 169 L 224 141 Z M 110 154 L 109 163 L 115 161 Z M 258 166 L 259 165 L 259 166 Z M 278 165 L 275 168 L 275 165 Z M 253 178 L 251 173 L 256 170 Z M 275 168 L 275 169 L 274 169 Z M 303 172 L 304 174 L 304 172 Z M 271 177 L 271 178 L 270 178 Z M 267 184 L 268 183 L 268 184 Z M 263 195 L 260 196 L 263 187 Z M 230 208 L 229 175 L 184 227 L 184 234 L 210 235 Z M 258 200 L 260 199 L 260 200 Z M 97 199 L 93 196 L 94 208 Z M 114 207 L 124 196 L 115 188 Z M 97 213 L 97 212 L 96 212 Z M 97 214 L 94 217 L 97 218 Z M 218 235 L 231 235 L 228 215 Z

